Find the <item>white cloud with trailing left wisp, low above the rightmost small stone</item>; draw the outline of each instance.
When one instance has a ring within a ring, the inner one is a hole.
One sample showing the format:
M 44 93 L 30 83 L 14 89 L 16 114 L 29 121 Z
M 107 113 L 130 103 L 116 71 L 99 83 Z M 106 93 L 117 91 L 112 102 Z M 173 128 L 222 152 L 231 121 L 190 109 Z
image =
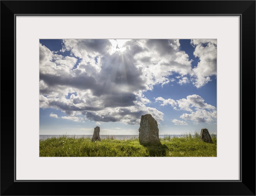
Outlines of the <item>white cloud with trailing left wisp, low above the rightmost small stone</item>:
M 155 98 L 155 100 L 162 102 L 161 105 L 170 104 L 174 110 L 189 111 L 190 114 L 185 113 L 180 116 L 180 118 L 186 121 L 191 121 L 193 123 L 210 123 L 217 119 L 216 107 L 205 103 L 204 99 L 199 95 L 189 95 L 186 98 L 176 101 L 172 99 L 166 100 L 162 97 Z

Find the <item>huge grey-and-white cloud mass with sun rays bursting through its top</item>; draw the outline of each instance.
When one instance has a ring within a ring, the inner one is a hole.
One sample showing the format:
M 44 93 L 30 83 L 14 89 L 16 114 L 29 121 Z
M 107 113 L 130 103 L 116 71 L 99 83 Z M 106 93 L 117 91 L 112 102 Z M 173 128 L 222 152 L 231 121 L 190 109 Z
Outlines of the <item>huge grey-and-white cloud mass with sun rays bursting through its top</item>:
M 204 42 L 193 44 L 205 47 Z M 202 52 L 195 52 L 203 62 Z M 150 100 L 143 93 L 175 81 L 169 79 L 174 73 L 180 84 L 187 83 L 191 74 L 193 84 L 200 79 L 201 65 L 192 70 L 179 40 L 67 39 L 59 52 L 40 43 L 39 56 L 40 107 L 58 109 L 66 114 L 62 119 L 76 122 L 139 124 L 147 113 L 161 121 L 164 114 L 147 107 Z M 156 101 L 178 104 L 171 99 Z

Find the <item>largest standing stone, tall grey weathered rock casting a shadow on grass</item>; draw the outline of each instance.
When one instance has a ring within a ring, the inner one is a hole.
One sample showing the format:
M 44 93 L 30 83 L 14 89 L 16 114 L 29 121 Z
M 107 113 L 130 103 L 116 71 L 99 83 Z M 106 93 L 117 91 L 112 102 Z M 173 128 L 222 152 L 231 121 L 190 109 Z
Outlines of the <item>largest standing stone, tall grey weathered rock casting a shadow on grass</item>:
M 141 145 L 161 145 L 158 125 L 151 114 L 141 116 L 139 142 Z

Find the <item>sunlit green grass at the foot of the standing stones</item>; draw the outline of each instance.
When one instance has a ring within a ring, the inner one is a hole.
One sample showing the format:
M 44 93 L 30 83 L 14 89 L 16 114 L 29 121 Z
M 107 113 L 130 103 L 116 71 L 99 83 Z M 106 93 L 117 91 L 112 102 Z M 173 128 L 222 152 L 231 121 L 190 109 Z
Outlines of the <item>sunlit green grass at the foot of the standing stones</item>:
M 200 134 L 184 133 L 178 138 L 165 135 L 160 146 L 143 146 L 139 139 L 117 140 L 114 135 L 91 141 L 89 137 L 75 138 L 63 135 L 39 141 L 39 156 L 217 156 L 217 138 L 213 144 L 200 141 Z

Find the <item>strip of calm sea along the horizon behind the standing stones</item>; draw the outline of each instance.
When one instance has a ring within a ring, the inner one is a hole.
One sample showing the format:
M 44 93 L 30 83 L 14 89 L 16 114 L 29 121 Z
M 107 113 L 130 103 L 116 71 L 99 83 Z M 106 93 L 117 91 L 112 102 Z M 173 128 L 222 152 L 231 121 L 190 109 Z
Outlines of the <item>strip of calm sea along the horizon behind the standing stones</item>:
M 46 139 L 46 138 L 52 138 L 52 137 L 60 137 L 63 135 L 39 135 L 39 139 Z M 67 137 L 74 137 L 75 138 L 82 138 L 82 137 L 89 137 L 92 138 L 93 135 L 65 135 Z M 130 138 L 138 138 L 139 135 L 100 135 L 100 138 L 111 138 L 111 136 L 114 137 L 114 139 L 123 140 L 123 139 L 130 139 Z M 166 135 L 159 135 L 159 138 L 164 138 Z M 170 137 L 182 137 L 182 135 L 170 135 Z

